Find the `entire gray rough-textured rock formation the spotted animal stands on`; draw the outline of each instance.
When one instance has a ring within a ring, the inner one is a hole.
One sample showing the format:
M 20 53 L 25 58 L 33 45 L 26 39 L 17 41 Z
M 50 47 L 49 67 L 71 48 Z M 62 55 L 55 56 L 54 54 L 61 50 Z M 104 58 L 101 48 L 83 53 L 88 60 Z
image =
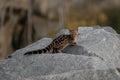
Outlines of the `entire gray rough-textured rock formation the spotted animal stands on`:
M 56 36 L 68 33 L 62 30 Z M 77 45 L 63 53 L 23 55 L 52 41 L 43 38 L 0 61 L 0 80 L 120 80 L 117 35 L 110 27 L 79 27 Z

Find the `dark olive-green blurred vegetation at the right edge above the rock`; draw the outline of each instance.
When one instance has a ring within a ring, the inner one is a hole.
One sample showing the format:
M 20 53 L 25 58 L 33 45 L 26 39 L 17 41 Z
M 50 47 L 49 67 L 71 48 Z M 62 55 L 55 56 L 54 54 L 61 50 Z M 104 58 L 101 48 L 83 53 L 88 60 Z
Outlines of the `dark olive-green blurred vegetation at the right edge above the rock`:
M 106 8 L 103 11 L 108 18 L 104 25 L 111 26 L 120 34 L 120 7 Z

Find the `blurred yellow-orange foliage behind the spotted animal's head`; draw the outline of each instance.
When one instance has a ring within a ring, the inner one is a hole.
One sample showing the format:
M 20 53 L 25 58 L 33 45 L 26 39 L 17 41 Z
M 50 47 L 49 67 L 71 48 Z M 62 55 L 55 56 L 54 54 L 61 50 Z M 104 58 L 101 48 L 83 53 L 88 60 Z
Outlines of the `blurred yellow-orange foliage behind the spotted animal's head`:
M 77 28 L 78 26 L 95 26 L 97 24 L 105 24 L 106 15 L 99 9 L 93 9 L 92 12 L 87 10 L 71 11 L 66 15 L 66 27 Z

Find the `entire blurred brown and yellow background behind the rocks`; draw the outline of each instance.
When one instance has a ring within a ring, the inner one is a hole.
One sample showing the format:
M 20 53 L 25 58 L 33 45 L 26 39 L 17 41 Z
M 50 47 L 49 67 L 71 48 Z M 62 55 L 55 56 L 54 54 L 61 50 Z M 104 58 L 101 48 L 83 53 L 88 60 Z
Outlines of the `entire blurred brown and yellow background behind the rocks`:
M 120 0 L 0 0 L 0 59 L 60 29 L 96 25 L 120 33 Z

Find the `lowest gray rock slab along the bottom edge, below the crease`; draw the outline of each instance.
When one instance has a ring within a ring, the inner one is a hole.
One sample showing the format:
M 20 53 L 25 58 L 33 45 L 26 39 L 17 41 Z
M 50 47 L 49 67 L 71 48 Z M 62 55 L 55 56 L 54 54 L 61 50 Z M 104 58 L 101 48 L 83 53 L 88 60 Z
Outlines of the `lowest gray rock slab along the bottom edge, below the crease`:
M 78 70 L 70 71 L 62 74 L 53 74 L 47 76 L 30 77 L 21 80 L 119 80 L 120 77 L 116 75 L 115 71 L 110 70 Z

